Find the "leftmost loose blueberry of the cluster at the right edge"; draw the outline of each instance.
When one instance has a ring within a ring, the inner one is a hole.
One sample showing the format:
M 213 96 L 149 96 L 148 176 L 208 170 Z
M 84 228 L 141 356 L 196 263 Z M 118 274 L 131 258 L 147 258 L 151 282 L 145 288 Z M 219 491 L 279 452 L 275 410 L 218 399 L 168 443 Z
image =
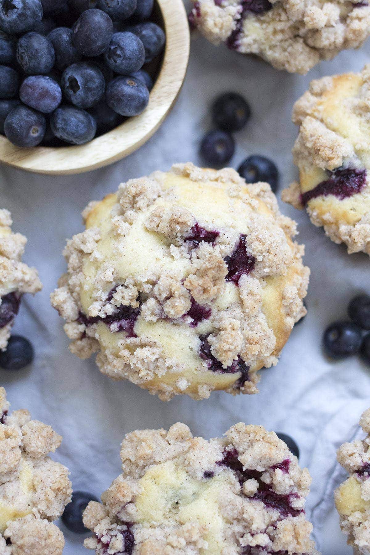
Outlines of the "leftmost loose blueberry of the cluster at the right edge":
M 325 330 L 323 343 L 327 355 L 333 358 L 354 355 L 361 349 L 361 328 L 353 322 L 334 322 Z

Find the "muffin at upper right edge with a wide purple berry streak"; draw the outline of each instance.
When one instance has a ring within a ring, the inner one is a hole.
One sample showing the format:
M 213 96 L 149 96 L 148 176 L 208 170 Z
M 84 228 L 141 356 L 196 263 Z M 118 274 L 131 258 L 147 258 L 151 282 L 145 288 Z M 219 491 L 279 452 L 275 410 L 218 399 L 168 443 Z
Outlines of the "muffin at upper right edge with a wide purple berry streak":
M 348 253 L 370 254 L 370 65 L 312 81 L 297 100 L 293 148 L 300 183 L 282 198 L 307 209 L 334 243 Z

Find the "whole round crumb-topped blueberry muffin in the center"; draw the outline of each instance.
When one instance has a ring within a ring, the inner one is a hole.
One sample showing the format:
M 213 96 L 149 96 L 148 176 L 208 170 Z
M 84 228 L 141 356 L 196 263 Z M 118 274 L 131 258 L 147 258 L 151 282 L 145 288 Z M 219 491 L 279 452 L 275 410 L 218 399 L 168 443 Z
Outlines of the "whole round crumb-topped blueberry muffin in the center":
M 266 183 L 175 165 L 84 211 L 51 296 L 70 350 L 168 400 L 255 393 L 305 313 L 296 224 Z

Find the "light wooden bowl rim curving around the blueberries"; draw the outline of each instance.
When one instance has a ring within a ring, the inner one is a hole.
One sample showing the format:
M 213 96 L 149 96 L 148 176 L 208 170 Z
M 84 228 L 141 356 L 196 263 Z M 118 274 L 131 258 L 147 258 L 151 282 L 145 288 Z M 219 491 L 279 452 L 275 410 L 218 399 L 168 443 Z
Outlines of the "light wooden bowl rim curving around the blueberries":
M 116 162 L 150 139 L 176 102 L 190 49 L 183 0 L 156 0 L 156 4 L 166 47 L 146 110 L 81 146 L 19 148 L 0 135 L 0 162 L 40 174 L 75 174 Z

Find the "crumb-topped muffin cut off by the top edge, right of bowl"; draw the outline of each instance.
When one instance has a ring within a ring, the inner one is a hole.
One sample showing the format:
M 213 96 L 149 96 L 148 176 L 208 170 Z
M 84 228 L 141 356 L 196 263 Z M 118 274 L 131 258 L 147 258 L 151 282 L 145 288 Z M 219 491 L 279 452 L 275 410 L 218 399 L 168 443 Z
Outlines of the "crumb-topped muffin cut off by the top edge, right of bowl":
M 305 74 L 320 60 L 358 48 L 370 34 L 367 2 L 192 0 L 190 21 L 212 43 Z

